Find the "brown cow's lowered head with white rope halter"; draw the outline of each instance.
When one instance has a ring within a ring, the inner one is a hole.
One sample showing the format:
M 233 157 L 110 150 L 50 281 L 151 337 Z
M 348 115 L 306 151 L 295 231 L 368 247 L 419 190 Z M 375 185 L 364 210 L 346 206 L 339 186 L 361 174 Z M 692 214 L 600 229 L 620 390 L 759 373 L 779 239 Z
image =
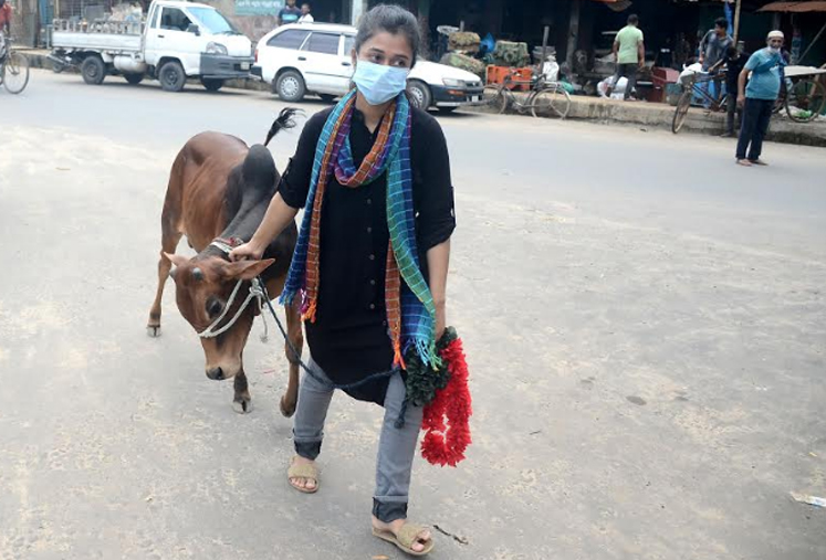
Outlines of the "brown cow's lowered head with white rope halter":
M 265 258 L 231 263 L 218 256 L 187 258 L 168 253 L 164 255 L 175 265 L 171 276 L 178 309 L 199 334 L 221 316 L 238 282 L 248 281 L 241 285 L 231 308 L 213 330 L 227 325 L 247 299 L 249 281 L 274 262 L 273 258 Z M 241 371 L 241 355 L 255 313 L 257 306 L 249 305 L 226 332 L 215 338 L 201 338 L 209 379 L 230 379 Z

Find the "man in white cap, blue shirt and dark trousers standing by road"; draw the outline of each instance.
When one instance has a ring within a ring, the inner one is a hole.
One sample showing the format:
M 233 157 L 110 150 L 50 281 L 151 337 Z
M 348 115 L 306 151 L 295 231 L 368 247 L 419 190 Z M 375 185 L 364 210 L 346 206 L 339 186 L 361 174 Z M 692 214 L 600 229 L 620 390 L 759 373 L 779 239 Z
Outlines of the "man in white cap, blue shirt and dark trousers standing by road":
M 769 130 L 769 120 L 772 118 L 772 108 L 780 94 L 782 67 L 785 65 L 781 55 L 783 39 L 782 31 L 770 32 L 766 36 L 769 45 L 749 57 L 738 78 L 738 105 L 743 107 L 743 124 L 740 127 L 736 152 L 740 166 L 766 165 L 760 159 L 760 154 L 763 149 L 763 138 Z

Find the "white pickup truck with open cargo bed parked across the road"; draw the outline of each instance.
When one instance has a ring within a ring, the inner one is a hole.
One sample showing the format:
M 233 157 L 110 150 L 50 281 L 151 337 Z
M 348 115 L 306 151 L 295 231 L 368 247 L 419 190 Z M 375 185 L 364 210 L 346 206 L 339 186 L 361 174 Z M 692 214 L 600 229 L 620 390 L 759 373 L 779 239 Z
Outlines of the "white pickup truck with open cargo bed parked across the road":
M 167 92 L 180 92 L 187 77 L 218 91 L 226 80 L 248 77 L 254 62 L 250 40 L 218 10 L 175 0 L 153 1 L 142 21 L 55 20 L 52 49 L 55 70 L 80 66 L 87 84 L 150 76 Z

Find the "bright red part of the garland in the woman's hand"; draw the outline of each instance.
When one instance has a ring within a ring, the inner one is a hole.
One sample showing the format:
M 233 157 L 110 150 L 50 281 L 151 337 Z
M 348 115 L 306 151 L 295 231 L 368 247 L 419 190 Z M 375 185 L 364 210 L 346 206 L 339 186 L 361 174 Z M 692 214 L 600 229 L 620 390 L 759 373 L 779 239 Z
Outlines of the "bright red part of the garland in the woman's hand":
M 461 339 L 451 341 L 440 356 L 448 364 L 450 381 L 445 389 L 436 391 L 436 398 L 425 406 L 421 456 L 431 465 L 456 466 L 464 458 L 464 450 L 471 443 L 468 419 L 473 413 Z

